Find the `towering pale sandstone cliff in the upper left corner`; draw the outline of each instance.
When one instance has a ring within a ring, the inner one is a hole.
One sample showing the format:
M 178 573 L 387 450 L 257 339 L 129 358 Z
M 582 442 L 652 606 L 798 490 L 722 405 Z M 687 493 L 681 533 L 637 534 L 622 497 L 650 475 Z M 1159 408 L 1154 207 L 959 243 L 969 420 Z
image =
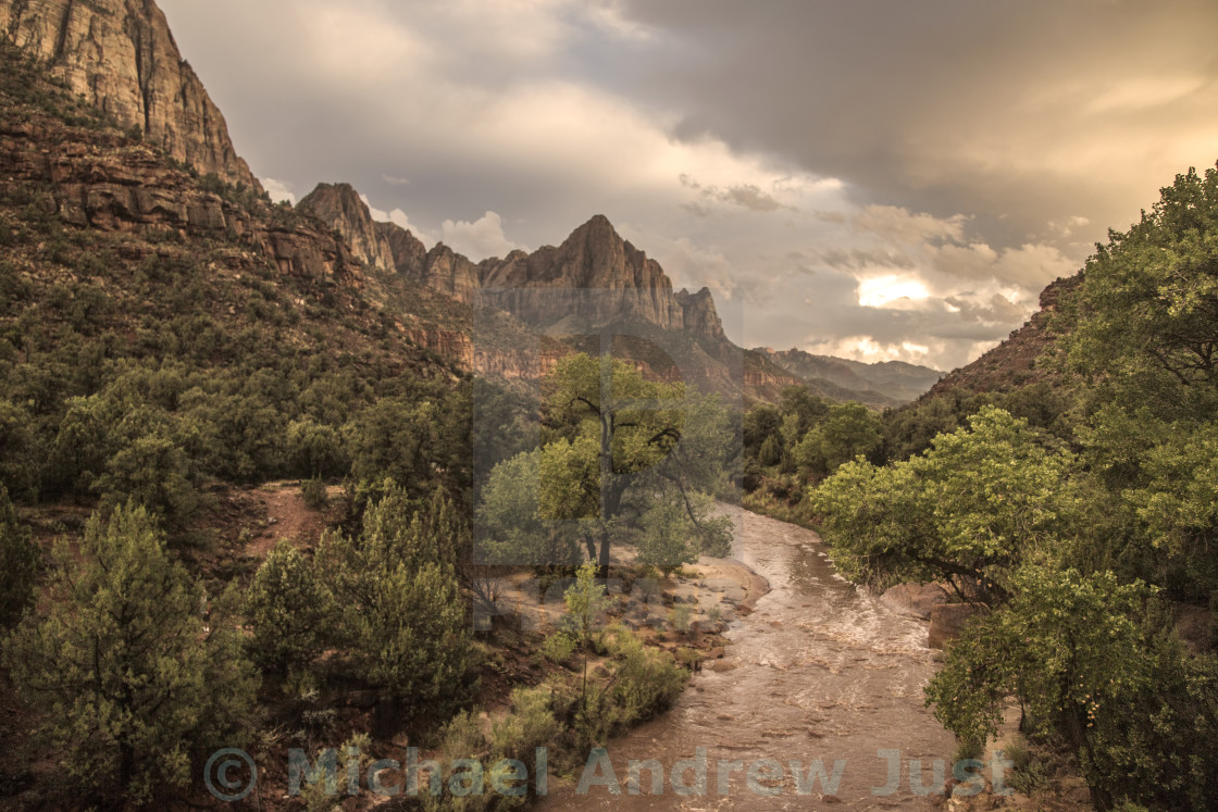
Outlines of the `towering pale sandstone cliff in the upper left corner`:
M 152 0 L 0 0 L 0 33 L 122 127 L 203 174 L 261 191 Z

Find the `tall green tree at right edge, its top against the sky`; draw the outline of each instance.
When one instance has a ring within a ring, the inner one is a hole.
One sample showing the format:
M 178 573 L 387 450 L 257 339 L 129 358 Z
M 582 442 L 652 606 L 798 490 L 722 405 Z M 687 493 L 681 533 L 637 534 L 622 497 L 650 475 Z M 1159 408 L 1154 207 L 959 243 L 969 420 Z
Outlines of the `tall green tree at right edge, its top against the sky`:
M 1177 599 L 1218 592 L 1218 169 L 1161 190 L 1097 245 L 1057 318 L 1066 369 L 1091 381 L 1083 457 L 1134 516 L 1134 573 Z

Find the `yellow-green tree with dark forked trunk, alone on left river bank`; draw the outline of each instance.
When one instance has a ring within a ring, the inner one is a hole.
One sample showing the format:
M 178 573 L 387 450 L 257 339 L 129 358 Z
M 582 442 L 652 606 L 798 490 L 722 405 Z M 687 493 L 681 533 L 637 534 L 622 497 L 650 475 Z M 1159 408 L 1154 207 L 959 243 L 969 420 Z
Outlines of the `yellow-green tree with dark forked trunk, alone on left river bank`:
M 490 554 L 542 562 L 540 545 L 569 549 L 577 538 L 604 578 L 615 542 L 649 543 L 647 520 L 658 515 L 658 502 L 680 505 L 687 531 L 682 547 L 665 544 L 674 556 L 666 564 L 726 553 L 731 523 L 715 517 L 704 498 L 726 486 L 733 464 L 730 422 L 716 398 L 585 354 L 563 359 L 551 382 L 542 447 L 502 464 L 503 474 L 492 472 L 482 494 L 479 516 Z M 531 478 L 509 480 L 508 471 Z

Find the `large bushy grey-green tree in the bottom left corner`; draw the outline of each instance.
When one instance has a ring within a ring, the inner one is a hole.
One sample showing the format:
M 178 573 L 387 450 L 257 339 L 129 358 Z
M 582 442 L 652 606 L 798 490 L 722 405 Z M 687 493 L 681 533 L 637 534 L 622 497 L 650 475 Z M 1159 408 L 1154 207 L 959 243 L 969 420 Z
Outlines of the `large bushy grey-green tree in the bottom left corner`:
M 146 509 L 94 515 L 79 556 L 56 549 L 51 590 L 5 663 L 86 799 L 145 803 L 185 784 L 194 758 L 244 740 L 256 684 L 235 626 L 205 629 L 202 593 Z

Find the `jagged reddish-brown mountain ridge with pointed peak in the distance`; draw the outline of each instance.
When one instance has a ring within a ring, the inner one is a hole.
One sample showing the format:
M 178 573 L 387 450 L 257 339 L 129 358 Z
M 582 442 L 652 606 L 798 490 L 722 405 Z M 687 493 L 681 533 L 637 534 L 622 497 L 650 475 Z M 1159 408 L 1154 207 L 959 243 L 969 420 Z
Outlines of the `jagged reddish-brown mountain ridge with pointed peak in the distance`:
M 319 184 L 297 212 L 318 218 L 351 243 L 370 295 L 401 314 L 414 341 L 464 369 L 532 380 L 548 373 L 564 352 L 598 352 L 570 336 L 611 324 L 632 336 L 622 336 L 615 352 L 658 379 L 683 379 L 745 401 L 777 399 L 784 387 L 795 385 L 876 408 L 900 401 L 871 391 L 862 379 L 850 386 L 801 375 L 766 353 L 741 349 L 723 332 L 708 289 L 674 291 L 659 263 L 622 240 L 599 214 L 558 247 L 513 251 L 474 264 L 443 243 L 429 251 L 410 231 L 373 222 L 348 184 Z M 547 338 L 538 349 L 540 332 L 568 337 Z

